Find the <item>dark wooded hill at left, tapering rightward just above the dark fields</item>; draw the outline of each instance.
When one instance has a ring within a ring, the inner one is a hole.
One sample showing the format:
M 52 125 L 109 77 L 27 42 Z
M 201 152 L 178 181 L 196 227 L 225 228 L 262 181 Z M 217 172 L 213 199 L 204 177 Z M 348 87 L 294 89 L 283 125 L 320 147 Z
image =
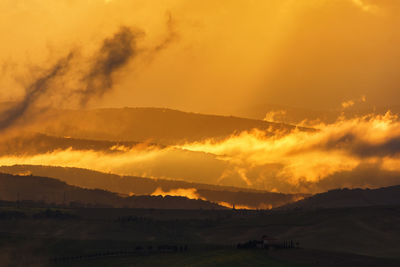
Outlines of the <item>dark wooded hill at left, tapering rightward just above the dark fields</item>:
M 4 173 L 0 173 L 0 200 L 116 208 L 224 209 L 204 200 L 172 196 L 123 197 L 105 190 L 71 186 L 52 178 Z

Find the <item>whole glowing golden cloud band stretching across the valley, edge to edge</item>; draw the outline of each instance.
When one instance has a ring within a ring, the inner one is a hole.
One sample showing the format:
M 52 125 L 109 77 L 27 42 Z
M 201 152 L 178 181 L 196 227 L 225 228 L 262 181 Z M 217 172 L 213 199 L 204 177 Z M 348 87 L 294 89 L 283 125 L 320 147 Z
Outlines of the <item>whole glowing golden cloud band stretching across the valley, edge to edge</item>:
M 81 167 L 274 192 L 315 193 L 400 182 L 400 121 L 390 112 L 321 124 L 317 131 L 254 129 L 221 140 L 159 147 L 62 149 L 4 155 L 0 165 Z

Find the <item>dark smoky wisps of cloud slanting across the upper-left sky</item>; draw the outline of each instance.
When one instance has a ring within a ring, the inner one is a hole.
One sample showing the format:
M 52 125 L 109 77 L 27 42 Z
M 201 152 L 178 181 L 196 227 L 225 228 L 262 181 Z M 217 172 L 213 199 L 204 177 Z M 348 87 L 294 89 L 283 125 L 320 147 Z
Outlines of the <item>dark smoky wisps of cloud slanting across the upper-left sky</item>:
M 141 52 L 149 52 L 147 56 L 153 56 L 157 52 L 165 49 L 175 38 L 176 33 L 169 15 L 167 21 L 168 36 L 155 48 L 139 50 L 137 39 L 143 36 L 143 32 L 134 31 L 128 27 L 120 27 L 119 30 L 110 38 L 106 38 L 100 49 L 93 55 L 89 68 L 83 70 L 82 75 L 68 77 L 68 79 L 78 79 L 77 88 L 61 88 L 56 82 L 67 77 L 72 70 L 72 59 L 76 58 L 75 52 L 70 52 L 66 57 L 60 59 L 49 70 L 26 88 L 24 98 L 11 107 L 5 109 L 0 115 L 0 131 L 12 126 L 19 118 L 32 107 L 41 97 L 50 95 L 62 95 L 62 101 L 66 99 L 77 101 L 84 107 L 90 99 L 102 97 L 114 86 L 113 74 L 126 66 L 133 58 Z M 79 61 L 77 61 L 79 62 Z M 77 63 L 77 62 L 74 62 Z M 63 85 L 65 86 L 65 85 Z M 50 100 L 48 102 L 51 102 Z M 54 104 L 54 103 L 52 103 Z

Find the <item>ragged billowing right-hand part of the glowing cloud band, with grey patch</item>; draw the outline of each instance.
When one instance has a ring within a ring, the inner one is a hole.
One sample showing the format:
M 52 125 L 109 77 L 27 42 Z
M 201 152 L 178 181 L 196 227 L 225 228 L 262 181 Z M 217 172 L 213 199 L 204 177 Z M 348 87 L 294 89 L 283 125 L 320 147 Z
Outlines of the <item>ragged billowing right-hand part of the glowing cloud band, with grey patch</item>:
M 212 153 L 229 162 L 229 172 L 221 179 L 236 173 L 257 188 L 313 192 L 321 190 L 317 184 L 327 177 L 352 172 L 363 164 L 387 169 L 389 159 L 398 159 L 400 154 L 399 136 L 397 116 L 387 113 L 320 125 L 317 132 L 293 131 L 269 137 L 255 130 L 224 141 L 208 140 L 181 148 Z M 395 168 L 392 171 L 400 171 L 395 164 L 390 166 Z M 383 183 L 375 181 L 375 185 Z M 338 180 L 335 186 L 342 185 Z

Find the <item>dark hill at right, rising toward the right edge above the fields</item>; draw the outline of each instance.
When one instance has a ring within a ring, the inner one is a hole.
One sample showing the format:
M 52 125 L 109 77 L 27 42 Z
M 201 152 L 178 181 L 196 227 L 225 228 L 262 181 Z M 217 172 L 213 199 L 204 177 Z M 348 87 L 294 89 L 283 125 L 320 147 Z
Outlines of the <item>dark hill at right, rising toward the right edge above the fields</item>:
M 313 195 L 283 209 L 316 209 L 400 205 L 400 185 L 378 189 L 335 189 Z

